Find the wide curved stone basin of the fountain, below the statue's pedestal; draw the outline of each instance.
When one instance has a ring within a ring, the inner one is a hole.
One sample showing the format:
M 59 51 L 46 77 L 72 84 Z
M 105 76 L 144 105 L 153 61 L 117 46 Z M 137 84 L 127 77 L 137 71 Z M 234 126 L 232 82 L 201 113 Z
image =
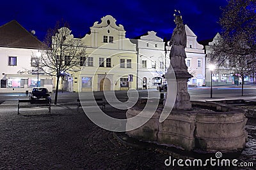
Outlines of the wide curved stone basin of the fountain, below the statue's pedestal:
M 154 100 L 154 99 L 148 99 Z M 154 101 L 151 101 L 154 102 Z M 138 115 L 147 103 L 140 101 L 127 110 L 126 117 Z M 226 104 L 191 101 L 192 110 L 172 110 L 164 122 L 159 122 L 163 104 L 159 104 L 150 120 L 128 131 L 132 138 L 175 146 L 184 150 L 206 152 L 238 152 L 243 150 L 247 132 L 244 110 Z M 198 109 L 199 108 L 199 109 Z M 127 127 L 131 127 L 127 122 Z

